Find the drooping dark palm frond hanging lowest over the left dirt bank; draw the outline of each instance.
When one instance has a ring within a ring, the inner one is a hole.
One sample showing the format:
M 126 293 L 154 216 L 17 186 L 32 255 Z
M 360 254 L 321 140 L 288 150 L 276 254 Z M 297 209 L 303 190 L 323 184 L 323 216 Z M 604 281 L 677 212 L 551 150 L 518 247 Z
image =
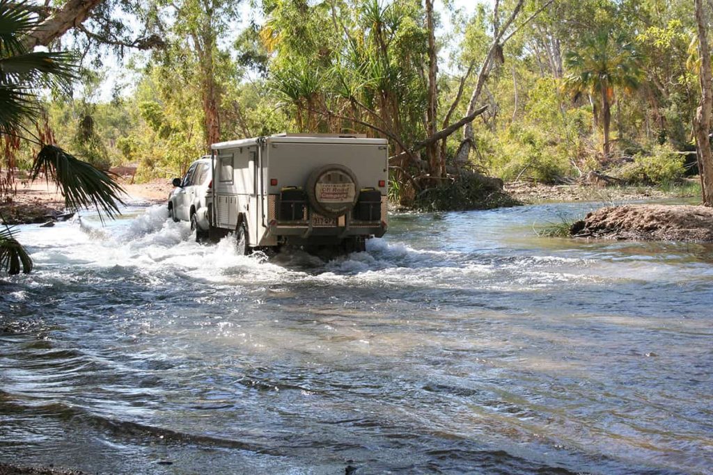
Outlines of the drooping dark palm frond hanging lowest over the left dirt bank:
M 32 179 L 45 173 L 47 179 L 57 183 L 66 207 L 79 209 L 93 206 L 103 220 L 103 214 L 113 218 L 120 214 L 118 204 L 125 194 L 123 188 L 106 172 L 65 152 L 55 145 L 45 145 L 40 150 L 32 167 Z

